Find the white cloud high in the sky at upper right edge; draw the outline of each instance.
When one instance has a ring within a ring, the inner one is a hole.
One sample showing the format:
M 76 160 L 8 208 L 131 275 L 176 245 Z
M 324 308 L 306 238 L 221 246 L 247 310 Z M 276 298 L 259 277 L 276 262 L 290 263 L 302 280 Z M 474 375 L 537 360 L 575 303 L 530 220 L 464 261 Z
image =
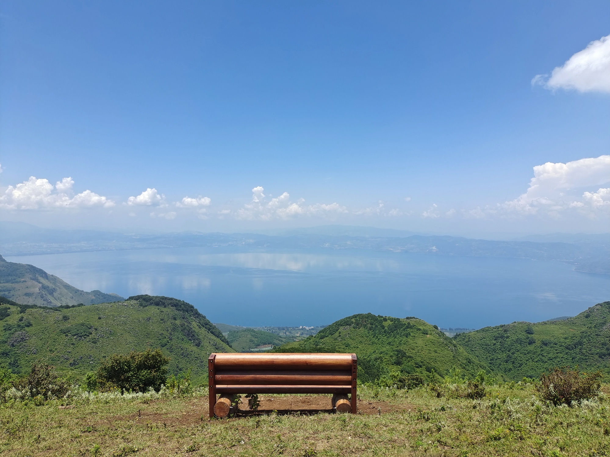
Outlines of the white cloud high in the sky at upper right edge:
M 562 66 L 548 75 L 536 75 L 532 84 L 554 89 L 574 89 L 579 92 L 610 93 L 610 35 L 591 41 Z

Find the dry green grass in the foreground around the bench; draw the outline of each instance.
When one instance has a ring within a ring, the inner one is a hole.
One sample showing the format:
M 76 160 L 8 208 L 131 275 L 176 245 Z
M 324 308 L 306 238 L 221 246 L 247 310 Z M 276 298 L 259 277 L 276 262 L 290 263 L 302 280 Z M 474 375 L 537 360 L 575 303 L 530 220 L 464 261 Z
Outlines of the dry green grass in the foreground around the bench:
M 531 385 L 487 388 L 481 400 L 361 388 L 363 405 L 392 412 L 207 419 L 205 391 L 81 395 L 0 405 L 3 456 L 605 456 L 606 395 L 572 408 L 541 402 Z M 606 389 L 606 387 L 605 387 Z M 65 402 L 63 402 L 65 403 Z M 361 407 L 361 410 L 363 408 Z

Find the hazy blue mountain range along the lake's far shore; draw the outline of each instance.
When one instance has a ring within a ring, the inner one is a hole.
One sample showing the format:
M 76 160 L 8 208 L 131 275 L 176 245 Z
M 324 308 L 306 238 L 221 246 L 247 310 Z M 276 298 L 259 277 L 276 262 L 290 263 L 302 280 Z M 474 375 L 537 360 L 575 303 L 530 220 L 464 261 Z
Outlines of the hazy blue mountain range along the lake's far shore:
M 556 260 L 572 264 L 577 271 L 610 274 L 610 233 L 555 234 L 513 241 L 490 241 L 458 236 L 410 235 L 412 232 L 342 225 L 289 230 L 282 236 L 196 232 L 137 235 L 90 230 L 46 230 L 16 222 L 0 222 L 0 228 L 0 252 L 4 255 L 213 246 L 240 249 L 371 249 L 429 255 Z

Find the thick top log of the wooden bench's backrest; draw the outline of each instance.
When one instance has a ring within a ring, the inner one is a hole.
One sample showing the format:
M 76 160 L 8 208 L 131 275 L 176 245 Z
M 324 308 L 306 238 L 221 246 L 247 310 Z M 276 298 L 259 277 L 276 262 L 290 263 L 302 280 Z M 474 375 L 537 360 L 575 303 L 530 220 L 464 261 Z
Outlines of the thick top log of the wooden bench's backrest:
M 351 369 L 351 354 L 336 353 L 217 353 L 217 369 L 337 370 Z

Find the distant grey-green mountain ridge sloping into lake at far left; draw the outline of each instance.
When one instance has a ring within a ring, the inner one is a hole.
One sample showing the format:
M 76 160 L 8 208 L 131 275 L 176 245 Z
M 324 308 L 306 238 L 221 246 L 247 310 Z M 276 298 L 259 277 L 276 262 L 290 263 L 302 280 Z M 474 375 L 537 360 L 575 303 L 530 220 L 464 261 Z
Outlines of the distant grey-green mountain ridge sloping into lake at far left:
M 117 294 L 85 292 L 57 276 L 26 263 L 7 262 L 0 255 L 0 296 L 22 305 L 94 305 L 124 300 Z

